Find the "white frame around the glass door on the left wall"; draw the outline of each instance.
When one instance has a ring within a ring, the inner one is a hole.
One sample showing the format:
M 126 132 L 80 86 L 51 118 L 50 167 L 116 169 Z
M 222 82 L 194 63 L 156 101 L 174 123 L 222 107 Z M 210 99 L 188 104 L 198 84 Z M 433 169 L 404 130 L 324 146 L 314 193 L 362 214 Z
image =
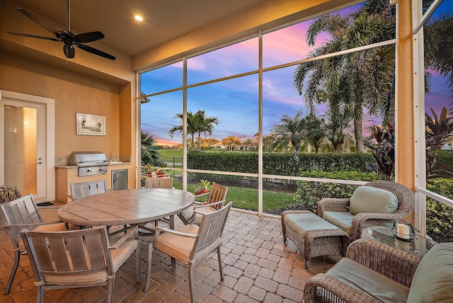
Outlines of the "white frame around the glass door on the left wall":
M 25 93 L 16 93 L 13 91 L 4 91 L 0 89 L 1 98 L 13 99 L 15 101 L 25 101 L 41 103 L 45 105 L 45 134 L 46 134 L 46 194 L 45 198 L 37 199 L 53 201 L 55 200 L 55 99 L 40 96 L 28 95 Z M 0 134 L 4 134 L 4 124 L 0 123 Z M 5 147 L 4 140 L 0 140 L 0 159 L 4 159 Z M 4 160 L 1 160 L 4 161 Z M 4 184 L 4 173 L 0 173 L 0 184 Z M 25 194 L 25 193 L 24 193 Z

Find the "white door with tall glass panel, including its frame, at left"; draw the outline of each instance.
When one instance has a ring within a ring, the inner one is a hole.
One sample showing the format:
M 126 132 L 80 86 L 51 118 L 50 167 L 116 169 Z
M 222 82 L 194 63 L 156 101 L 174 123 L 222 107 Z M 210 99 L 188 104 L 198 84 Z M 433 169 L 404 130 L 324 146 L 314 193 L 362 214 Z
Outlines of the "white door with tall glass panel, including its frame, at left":
M 0 184 L 14 185 L 22 195 L 32 193 L 37 201 L 55 200 L 55 152 L 48 144 L 54 140 L 47 129 L 52 125 L 47 122 L 48 107 L 54 103 L 49 101 L 1 91 Z

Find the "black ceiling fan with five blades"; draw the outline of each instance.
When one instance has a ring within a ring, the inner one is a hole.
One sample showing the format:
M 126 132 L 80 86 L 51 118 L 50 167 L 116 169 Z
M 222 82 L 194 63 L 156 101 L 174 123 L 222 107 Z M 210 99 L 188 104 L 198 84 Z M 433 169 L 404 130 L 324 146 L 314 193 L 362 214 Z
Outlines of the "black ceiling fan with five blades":
M 102 50 L 98 50 L 94 47 L 82 44 L 82 43 L 93 42 L 93 41 L 101 40 L 101 39 L 105 38 L 105 35 L 103 33 L 96 31 L 96 32 L 81 33 L 81 34 L 76 35 L 71 32 L 71 25 L 69 22 L 70 21 L 70 19 L 69 19 L 70 18 L 69 1 L 70 0 L 68 0 L 68 28 L 67 28 L 67 30 L 55 30 L 54 28 L 52 28 L 52 26 L 50 26 L 47 23 L 36 18 L 28 11 L 25 11 L 25 9 L 20 8 L 20 7 L 16 8 L 18 11 L 23 13 L 28 18 L 30 18 L 31 20 L 38 23 L 46 30 L 49 30 L 50 33 L 53 33 L 56 38 L 44 37 L 44 36 L 39 36 L 39 35 L 30 35 L 30 34 L 25 34 L 25 33 L 14 33 L 14 32 L 6 32 L 6 33 L 10 33 L 12 35 L 29 37 L 29 38 L 38 38 L 38 39 L 44 39 L 44 40 L 63 42 L 64 43 L 63 52 L 64 52 L 64 56 L 67 58 L 74 58 L 74 55 L 75 55 L 74 45 L 75 45 L 76 47 L 79 47 L 81 50 L 84 50 L 86 52 L 91 52 L 91 54 L 98 55 L 98 56 L 101 56 L 101 57 L 104 57 L 104 58 L 107 58 L 110 60 L 115 60 L 116 57 L 114 57 L 106 52 L 103 52 Z

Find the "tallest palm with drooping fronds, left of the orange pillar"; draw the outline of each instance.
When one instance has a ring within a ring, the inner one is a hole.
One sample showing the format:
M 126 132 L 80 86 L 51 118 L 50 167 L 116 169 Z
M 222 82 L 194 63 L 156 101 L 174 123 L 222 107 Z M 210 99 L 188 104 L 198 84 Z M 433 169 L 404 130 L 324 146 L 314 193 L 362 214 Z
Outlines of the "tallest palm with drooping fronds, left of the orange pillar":
M 388 40 L 394 37 L 394 24 L 394 11 L 389 1 L 384 0 L 370 0 L 357 12 L 345 16 L 321 16 L 311 23 L 307 43 L 313 46 L 323 32 L 328 33 L 331 40 L 310 52 L 309 57 Z M 394 90 L 394 56 L 394 47 L 385 46 L 302 63 L 294 72 L 294 86 L 299 95 L 304 96 L 312 113 L 316 104 L 326 100 L 332 112 L 345 109 L 354 122 L 357 151 L 364 151 L 363 108 L 367 108 L 370 115 L 388 113 Z M 319 91 L 324 91 L 327 98 L 320 100 Z

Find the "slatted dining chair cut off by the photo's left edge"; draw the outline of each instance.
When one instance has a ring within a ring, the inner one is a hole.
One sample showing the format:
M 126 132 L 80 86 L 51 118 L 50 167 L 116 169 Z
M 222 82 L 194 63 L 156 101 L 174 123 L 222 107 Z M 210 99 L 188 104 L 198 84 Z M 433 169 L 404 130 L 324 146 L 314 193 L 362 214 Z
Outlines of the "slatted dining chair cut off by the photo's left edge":
M 21 241 L 21 230 L 28 227 L 39 226 L 37 230 L 64 231 L 66 229 L 64 222 L 44 222 L 38 211 L 32 194 L 23 196 L 11 202 L 0 204 L 0 216 L 4 223 L 2 226 L 8 232 L 11 244 L 13 244 L 14 262 L 6 282 L 4 294 L 11 290 L 14 277 L 21 259 L 21 253 L 25 252 Z

